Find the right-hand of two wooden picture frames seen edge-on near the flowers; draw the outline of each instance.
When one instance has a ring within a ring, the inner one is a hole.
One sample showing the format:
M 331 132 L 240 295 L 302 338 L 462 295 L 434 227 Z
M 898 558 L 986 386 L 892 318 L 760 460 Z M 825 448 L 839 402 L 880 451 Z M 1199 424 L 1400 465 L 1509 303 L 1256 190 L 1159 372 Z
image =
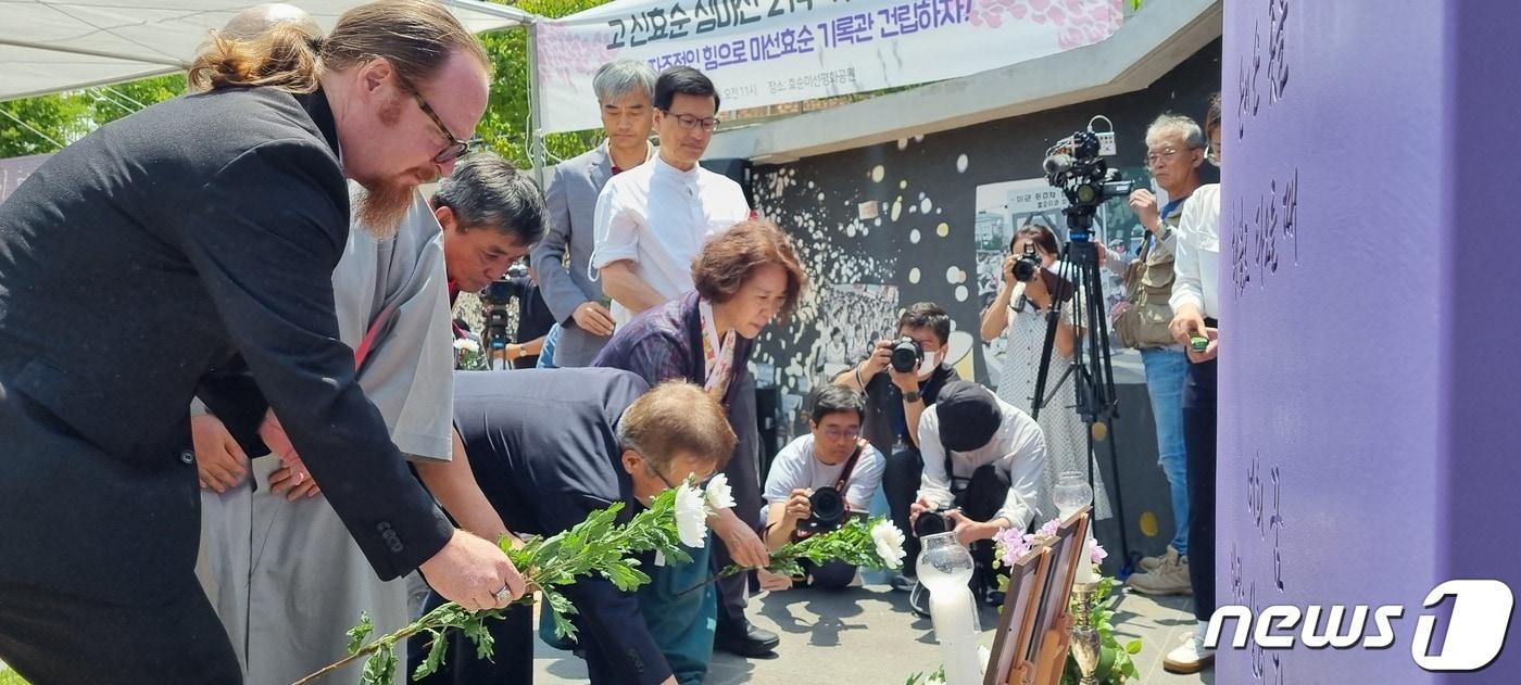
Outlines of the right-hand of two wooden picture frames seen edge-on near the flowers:
M 1077 563 L 1088 551 L 1088 516 L 1092 507 L 1083 507 L 1057 529 L 1051 550 L 1049 571 L 1034 606 L 1030 642 L 1025 659 L 1036 665 L 1034 685 L 1057 685 L 1066 667 L 1066 652 L 1071 646 L 1072 579 Z

